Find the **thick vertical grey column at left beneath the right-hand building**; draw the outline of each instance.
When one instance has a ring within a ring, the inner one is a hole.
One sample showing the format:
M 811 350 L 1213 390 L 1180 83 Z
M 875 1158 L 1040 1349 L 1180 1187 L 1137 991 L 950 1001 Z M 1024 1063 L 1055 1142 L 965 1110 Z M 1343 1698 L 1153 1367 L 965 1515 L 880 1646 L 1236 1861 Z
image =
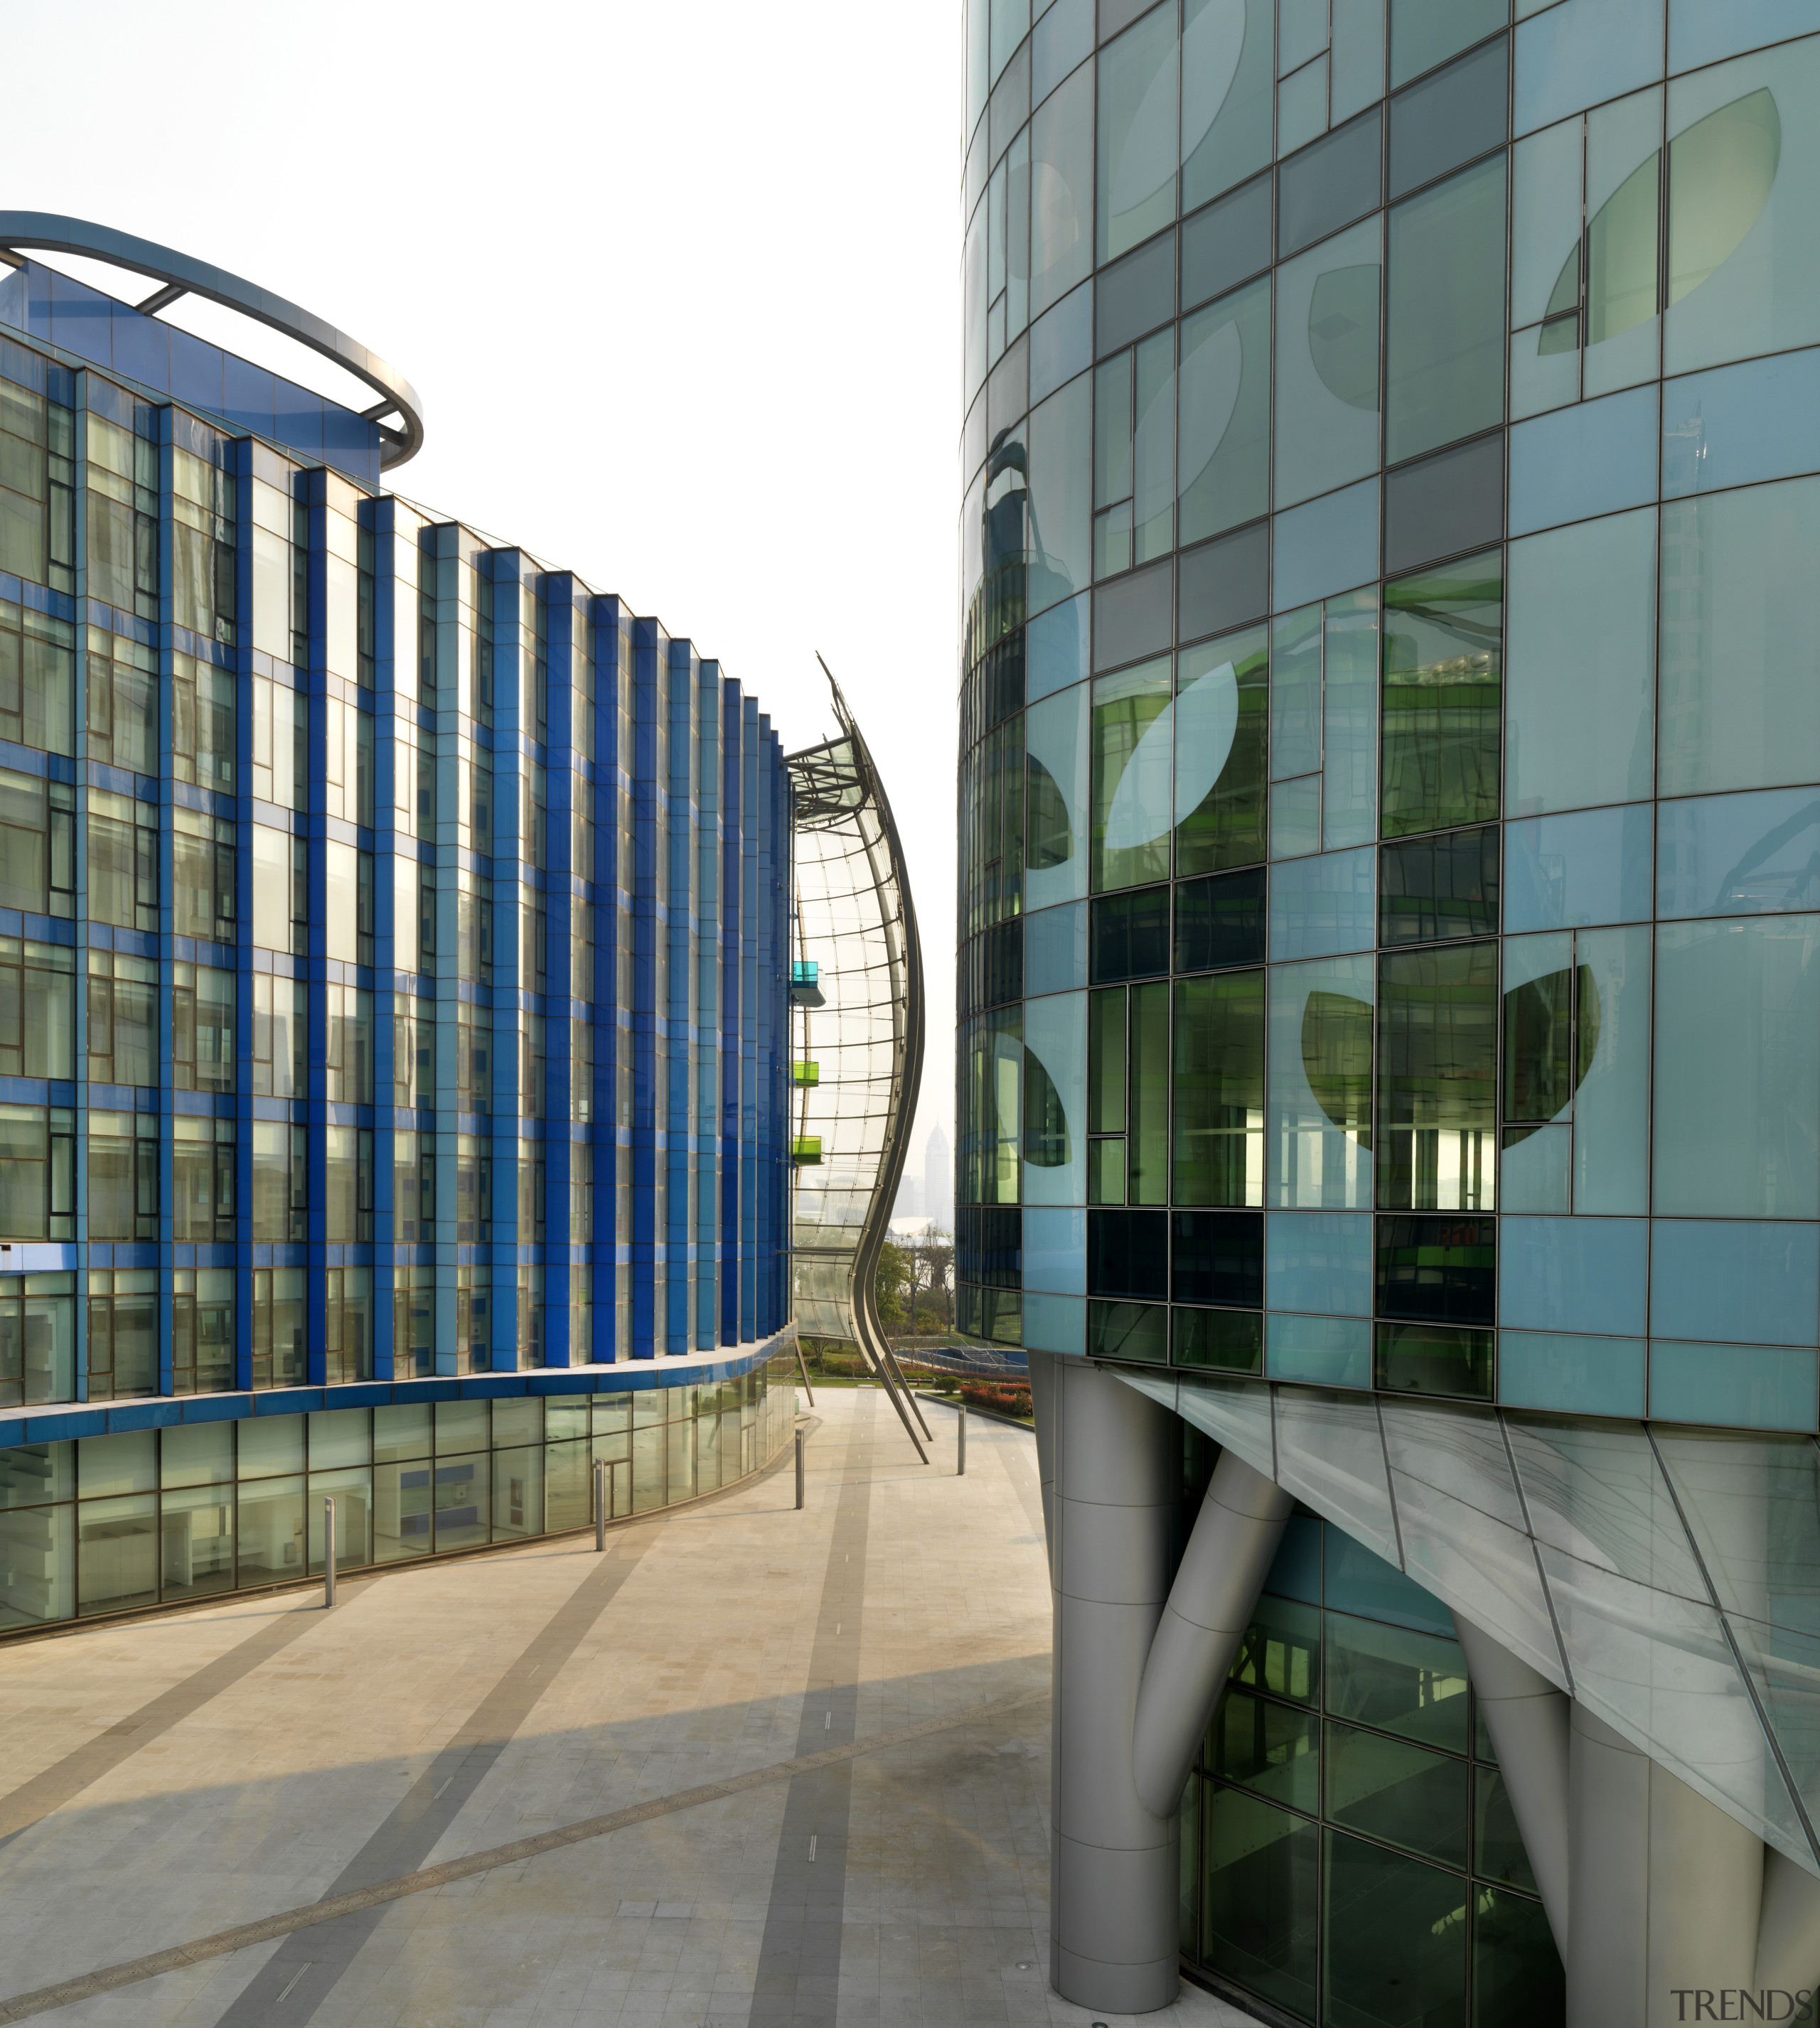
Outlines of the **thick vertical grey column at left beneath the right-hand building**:
M 1150 2014 L 1181 1989 L 1175 1815 L 1132 1777 L 1138 1681 L 1169 1590 L 1175 1420 L 1057 1359 L 1055 1843 L 1049 1979 L 1081 2008 Z

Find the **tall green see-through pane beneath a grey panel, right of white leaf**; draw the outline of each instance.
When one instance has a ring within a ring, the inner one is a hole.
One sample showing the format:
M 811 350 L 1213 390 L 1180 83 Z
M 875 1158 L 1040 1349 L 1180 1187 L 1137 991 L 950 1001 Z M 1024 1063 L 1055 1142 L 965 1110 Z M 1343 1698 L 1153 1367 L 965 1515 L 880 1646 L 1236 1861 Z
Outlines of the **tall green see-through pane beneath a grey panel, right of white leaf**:
M 1497 815 L 1501 631 L 1495 550 L 1386 584 L 1386 838 Z

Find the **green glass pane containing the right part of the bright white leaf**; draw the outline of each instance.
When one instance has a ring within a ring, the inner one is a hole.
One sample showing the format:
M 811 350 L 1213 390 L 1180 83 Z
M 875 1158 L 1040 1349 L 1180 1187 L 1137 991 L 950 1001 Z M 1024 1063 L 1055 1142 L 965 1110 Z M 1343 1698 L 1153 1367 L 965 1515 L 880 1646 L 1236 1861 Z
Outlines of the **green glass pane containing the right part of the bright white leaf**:
M 1175 700 L 1177 874 L 1256 866 L 1264 858 L 1268 716 L 1266 629 L 1246 627 L 1181 651 Z

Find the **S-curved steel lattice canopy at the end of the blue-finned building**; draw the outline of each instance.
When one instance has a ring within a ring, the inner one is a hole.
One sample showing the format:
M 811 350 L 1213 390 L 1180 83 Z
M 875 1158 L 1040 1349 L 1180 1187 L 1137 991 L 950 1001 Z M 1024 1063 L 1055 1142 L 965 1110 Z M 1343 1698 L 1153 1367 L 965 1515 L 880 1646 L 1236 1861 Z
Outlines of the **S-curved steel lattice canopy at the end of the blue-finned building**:
M 816 659 L 820 661 L 820 657 Z M 797 838 L 814 831 L 838 836 L 840 844 L 830 866 L 842 864 L 844 876 L 836 888 L 818 894 L 812 892 L 806 866 L 797 864 L 797 933 L 806 947 L 816 947 L 822 953 L 824 980 L 834 998 L 836 1040 L 828 1048 L 828 1067 L 834 1077 L 826 1087 L 816 1087 L 816 1093 L 826 1093 L 832 1101 L 830 1126 L 858 1130 L 868 1144 L 864 1150 L 852 1150 L 860 1158 L 854 1164 L 854 1180 L 862 1176 L 866 1156 L 877 1160 L 877 1168 L 870 1188 L 864 1190 L 862 1209 L 854 1201 L 856 1192 L 842 1186 L 844 1178 L 830 1178 L 836 1188 L 824 1219 L 814 1225 L 801 1219 L 799 1188 L 795 1249 L 799 1259 L 808 1255 L 814 1263 L 832 1270 L 834 1278 L 846 1282 L 838 1298 L 832 1288 L 826 1288 L 816 1306 L 838 1314 L 850 1326 L 838 1334 L 858 1343 L 872 1371 L 885 1383 L 905 1434 L 923 1456 L 911 1416 L 923 1426 L 923 1436 L 929 1434 L 929 1428 L 923 1424 L 921 1409 L 911 1397 L 879 1318 L 879 1259 L 891 1231 L 891 1207 L 903 1180 L 909 1130 L 923 1083 L 923 945 L 917 935 L 917 909 L 911 898 L 897 823 L 891 815 L 891 799 L 885 795 L 872 754 L 826 661 L 822 673 L 834 692 L 834 714 L 840 720 L 842 738 L 787 756 L 793 785 L 793 823 Z M 846 980 L 854 986 L 852 996 L 842 990 Z M 868 998 L 877 994 L 879 986 L 885 988 L 891 1002 L 889 1016 L 881 1004 Z M 856 998 L 858 1004 L 846 1014 L 848 1020 L 856 1022 L 856 1030 L 846 1038 L 846 1053 L 854 1061 L 844 1067 L 840 1063 L 842 1002 L 848 998 Z M 889 1046 L 885 1034 L 874 1030 L 874 1018 L 889 1026 Z M 885 1051 L 887 1065 L 879 1065 L 874 1048 Z M 881 1085 L 883 1115 L 874 1111 L 874 1101 L 864 1095 L 866 1087 Z M 846 1087 L 846 1097 L 838 1097 L 842 1087 Z M 806 1091 L 803 1101 L 808 1099 Z M 874 1119 L 879 1121 L 877 1130 Z M 874 1138 L 877 1146 L 872 1146 Z M 858 1217 L 854 1219 L 852 1213 Z M 848 1261 L 850 1265 L 846 1265 Z

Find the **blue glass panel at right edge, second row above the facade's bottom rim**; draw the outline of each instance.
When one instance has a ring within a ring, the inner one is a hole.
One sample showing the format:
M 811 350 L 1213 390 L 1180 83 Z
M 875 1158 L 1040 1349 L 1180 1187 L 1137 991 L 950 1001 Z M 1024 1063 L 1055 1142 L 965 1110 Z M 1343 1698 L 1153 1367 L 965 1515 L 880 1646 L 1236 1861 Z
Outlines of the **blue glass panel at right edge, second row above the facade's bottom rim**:
M 1820 1345 L 1820 1225 L 1658 1219 L 1650 1330 L 1727 1345 Z

